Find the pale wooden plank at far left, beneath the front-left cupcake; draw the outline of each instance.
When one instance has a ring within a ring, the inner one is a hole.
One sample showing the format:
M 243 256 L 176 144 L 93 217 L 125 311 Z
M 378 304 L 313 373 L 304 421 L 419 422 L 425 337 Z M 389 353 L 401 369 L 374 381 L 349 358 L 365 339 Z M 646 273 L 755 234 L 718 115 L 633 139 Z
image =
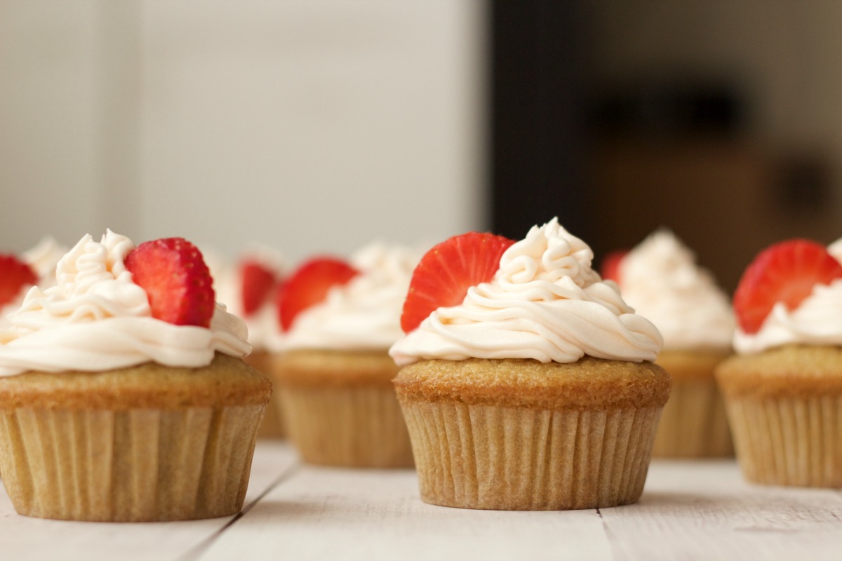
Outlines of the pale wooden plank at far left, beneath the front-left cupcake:
M 244 510 L 296 462 L 290 447 L 258 442 Z M 153 523 L 43 520 L 19 516 L 5 490 L 0 490 L 0 560 L 183 558 L 202 548 L 233 518 Z

